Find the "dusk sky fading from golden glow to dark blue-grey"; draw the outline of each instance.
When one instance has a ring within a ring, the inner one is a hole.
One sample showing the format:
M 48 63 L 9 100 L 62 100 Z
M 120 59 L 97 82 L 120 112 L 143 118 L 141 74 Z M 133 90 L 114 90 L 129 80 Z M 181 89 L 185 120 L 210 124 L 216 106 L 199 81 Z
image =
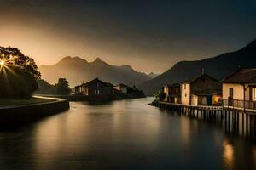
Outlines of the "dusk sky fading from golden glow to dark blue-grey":
M 38 65 L 65 56 L 161 73 L 256 38 L 254 0 L 0 0 L 0 46 Z

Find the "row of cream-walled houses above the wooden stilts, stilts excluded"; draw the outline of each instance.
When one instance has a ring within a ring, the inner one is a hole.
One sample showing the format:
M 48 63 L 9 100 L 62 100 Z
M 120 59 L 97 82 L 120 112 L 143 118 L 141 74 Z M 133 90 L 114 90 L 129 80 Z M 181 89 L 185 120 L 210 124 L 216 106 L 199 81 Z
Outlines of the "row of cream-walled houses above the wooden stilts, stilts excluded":
M 189 106 L 223 106 L 239 111 L 256 110 L 256 69 L 240 69 L 230 77 L 216 80 L 202 71 L 198 77 L 166 84 L 160 102 Z

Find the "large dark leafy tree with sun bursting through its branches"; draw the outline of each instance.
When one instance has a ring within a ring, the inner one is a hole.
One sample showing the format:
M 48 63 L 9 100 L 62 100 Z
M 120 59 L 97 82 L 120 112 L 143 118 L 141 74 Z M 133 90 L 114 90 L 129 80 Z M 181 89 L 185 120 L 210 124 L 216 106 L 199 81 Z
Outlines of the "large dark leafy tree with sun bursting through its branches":
M 0 96 L 27 98 L 38 89 L 40 72 L 35 61 L 18 48 L 0 47 Z

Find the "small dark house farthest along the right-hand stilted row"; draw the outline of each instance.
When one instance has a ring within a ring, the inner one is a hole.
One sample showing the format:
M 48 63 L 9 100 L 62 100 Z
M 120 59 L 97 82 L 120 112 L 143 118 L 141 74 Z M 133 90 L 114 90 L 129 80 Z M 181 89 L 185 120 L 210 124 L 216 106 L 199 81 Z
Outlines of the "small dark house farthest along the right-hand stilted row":
M 164 101 L 170 103 L 181 103 L 180 84 L 168 84 L 164 86 L 166 97 Z

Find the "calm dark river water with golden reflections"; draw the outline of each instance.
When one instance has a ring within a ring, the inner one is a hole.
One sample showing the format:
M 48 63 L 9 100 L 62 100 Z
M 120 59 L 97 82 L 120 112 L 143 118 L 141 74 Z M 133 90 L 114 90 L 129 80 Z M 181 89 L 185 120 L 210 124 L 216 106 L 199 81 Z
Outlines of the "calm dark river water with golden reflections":
M 152 99 L 71 109 L 0 133 L 0 169 L 256 169 L 256 145 Z

